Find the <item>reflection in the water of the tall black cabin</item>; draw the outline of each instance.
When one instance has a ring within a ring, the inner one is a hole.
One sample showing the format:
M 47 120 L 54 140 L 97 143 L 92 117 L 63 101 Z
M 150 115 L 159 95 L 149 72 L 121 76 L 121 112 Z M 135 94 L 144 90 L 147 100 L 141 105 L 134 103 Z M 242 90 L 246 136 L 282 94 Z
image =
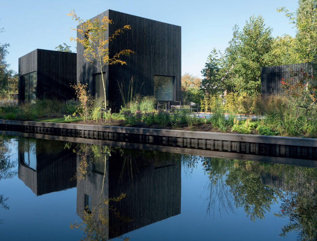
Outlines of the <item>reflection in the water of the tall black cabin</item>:
M 81 218 L 85 206 L 100 202 L 105 167 L 103 160 L 104 155 L 100 162 L 90 164 L 87 179 L 77 182 L 77 214 Z M 126 222 L 107 209 L 109 239 L 180 214 L 180 155 L 165 153 L 163 158 L 146 161 L 112 154 L 107 158 L 102 197 L 119 197 L 121 193 L 126 193 L 126 197 L 110 202 L 109 206 L 132 221 Z

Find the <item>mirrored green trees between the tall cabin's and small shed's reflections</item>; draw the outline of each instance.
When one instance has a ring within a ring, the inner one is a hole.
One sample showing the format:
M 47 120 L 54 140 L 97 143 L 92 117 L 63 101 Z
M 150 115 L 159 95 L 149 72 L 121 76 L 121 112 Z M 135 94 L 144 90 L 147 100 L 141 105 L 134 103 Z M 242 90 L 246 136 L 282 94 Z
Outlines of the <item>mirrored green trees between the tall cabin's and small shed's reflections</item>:
M 215 212 L 217 205 L 220 215 L 234 213 L 235 207 L 243 207 L 252 221 L 263 219 L 281 194 L 279 189 L 262 184 L 265 164 L 211 157 L 200 160 L 209 177 L 205 186 L 205 191 L 209 192 L 208 213 Z

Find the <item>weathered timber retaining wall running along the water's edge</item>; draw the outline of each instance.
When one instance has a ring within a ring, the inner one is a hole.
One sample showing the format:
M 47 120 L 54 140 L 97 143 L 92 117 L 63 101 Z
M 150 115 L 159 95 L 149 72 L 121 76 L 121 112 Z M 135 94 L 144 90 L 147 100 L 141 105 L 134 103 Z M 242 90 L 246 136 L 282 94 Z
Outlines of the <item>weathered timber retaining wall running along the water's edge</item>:
M 0 120 L 0 130 L 3 131 L 3 134 L 6 134 L 6 131 L 8 134 L 10 131 L 15 131 L 47 136 L 157 145 L 161 147 L 160 149 L 171 147 L 197 149 L 201 152 L 205 150 L 221 151 L 225 155 L 224 157 L 228 153 L 239 153 L 242 155 L 241 158 L 245 155 L 258 155 L 317 160 L 317 139 L 313 138 L 11 120 Z

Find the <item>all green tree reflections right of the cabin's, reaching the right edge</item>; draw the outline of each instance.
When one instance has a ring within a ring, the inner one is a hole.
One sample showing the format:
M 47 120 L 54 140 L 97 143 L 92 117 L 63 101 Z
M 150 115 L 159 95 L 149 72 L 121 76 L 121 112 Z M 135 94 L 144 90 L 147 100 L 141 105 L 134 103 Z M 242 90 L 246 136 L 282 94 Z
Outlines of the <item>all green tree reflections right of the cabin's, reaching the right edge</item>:
M 296 231 L 299 240 L 317 240 L 317 169 L 208 157 L 200 161 L 210 180 L 205 188 L 208 212 L 217 205 L 220 214 L 234 212 L 235 205 L 255 221 L 280 199 L 275 216 L 289 218 L 281 236 Z

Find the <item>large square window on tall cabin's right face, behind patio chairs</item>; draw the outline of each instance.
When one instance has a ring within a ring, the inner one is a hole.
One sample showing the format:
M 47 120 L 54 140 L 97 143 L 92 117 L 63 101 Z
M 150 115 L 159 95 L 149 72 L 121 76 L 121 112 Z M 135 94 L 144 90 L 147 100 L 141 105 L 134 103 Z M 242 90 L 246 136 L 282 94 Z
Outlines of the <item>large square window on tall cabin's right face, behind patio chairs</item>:
M 174 77 L 154 75 L 154 95 L 158 100 L 174 100 Z

